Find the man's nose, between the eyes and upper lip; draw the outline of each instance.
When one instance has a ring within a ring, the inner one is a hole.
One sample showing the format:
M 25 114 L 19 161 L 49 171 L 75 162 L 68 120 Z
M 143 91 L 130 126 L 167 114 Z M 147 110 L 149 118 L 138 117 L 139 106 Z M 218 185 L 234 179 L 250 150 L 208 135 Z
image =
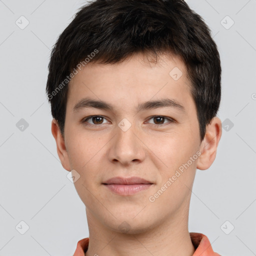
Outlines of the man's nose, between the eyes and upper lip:
M 128 126 L 127 126 L 128 125 Z M 143 144 L 141 132 L 127 120 L 116 126 L 115 136 L 110 140 L 108 159 L 128 165 L 141 162 L 145 158 L 146 146 Z

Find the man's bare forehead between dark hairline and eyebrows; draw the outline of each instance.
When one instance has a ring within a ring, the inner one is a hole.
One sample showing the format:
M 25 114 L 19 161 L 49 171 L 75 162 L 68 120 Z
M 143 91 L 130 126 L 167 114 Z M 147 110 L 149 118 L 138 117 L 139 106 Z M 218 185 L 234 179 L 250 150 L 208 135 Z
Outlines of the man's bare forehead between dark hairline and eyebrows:
M 161 54 L 157 60 L 155 63 L 150 55 L 136 53 L 114 64 L 86 64 L 70 82 L 68 107 L 85 97 L 136 108 L 138 102 L 163 97 L 187 101 L 190 82 L 183 61 L 170 54 Z

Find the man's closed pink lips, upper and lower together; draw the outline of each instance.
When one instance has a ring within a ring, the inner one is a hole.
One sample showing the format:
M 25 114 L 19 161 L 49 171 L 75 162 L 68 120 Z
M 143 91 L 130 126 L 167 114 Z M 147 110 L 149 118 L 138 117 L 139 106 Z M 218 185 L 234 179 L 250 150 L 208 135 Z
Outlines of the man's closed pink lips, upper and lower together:
M 153 183 L 140 177 L 113 177 L 102 183 L 119 195 L 132 195 L 149 188 Z

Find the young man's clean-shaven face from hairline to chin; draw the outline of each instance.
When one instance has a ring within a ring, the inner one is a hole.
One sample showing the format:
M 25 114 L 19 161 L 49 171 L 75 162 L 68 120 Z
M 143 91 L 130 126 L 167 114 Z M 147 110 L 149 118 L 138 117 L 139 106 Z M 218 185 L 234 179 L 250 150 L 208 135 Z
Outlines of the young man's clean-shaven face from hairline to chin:
M 58 154 L 88 221 L 136 233 L 187 217 L 202 149 L 189 84 L 178 57 L 140 53 L 72 78 Z

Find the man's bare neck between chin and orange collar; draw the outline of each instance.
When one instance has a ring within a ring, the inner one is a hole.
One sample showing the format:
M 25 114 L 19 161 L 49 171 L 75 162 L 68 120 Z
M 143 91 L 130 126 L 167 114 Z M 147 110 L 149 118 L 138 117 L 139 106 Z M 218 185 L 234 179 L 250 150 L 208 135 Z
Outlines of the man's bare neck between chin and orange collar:
M 87 209 L 86 215 L 89 246 L 85 256 L 192 256 L 194 253 L 187 227 L 188 214 L 176 214 L 153 228 L 131 233 L 120 233 L 108 228 Z

